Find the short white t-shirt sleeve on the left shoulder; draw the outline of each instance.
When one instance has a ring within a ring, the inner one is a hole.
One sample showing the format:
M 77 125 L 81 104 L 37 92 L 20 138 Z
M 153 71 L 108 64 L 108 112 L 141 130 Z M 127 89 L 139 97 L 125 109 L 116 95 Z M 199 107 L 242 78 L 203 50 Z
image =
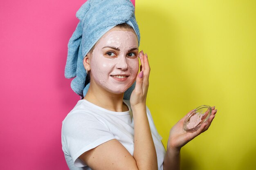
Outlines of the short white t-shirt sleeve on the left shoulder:
M 79 159 L 84 152 L 115 139 L 108 127 L 89 113 L 72 113 L 63 121 L 62 139 L 75 166 L 87 166 Z

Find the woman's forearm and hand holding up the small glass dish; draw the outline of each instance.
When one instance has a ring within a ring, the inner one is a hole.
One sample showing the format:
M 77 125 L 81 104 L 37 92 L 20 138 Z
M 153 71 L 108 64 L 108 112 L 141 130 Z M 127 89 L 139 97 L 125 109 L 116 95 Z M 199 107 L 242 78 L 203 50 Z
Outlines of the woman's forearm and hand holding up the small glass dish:
M 164 157 L 164 170 L 180 170 L 180 150 L 182 146 L 209 128 L 217 112 L 217 110 L 214 109 L 215 107 L 212 107 L 213 111 L 208 121 L 202 124 L 202 126 L 194 132 L 186 132 L 183 130 L 183 122 L 186 116 L 184 116 L 180 121 L 177 122 L 177 124 L 173 126 L 173 128 L 171 128 L 167 143 L 166 155 Z M 190 114 L 192 111 L 193 110 L 191 110 L 188 114 Z

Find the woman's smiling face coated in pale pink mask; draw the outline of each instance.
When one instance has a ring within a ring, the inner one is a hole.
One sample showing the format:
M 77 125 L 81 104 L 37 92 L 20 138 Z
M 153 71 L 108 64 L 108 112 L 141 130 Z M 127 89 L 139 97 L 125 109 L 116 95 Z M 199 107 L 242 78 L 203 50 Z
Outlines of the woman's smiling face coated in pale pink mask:
M 139 70 L 138 40 L 129 30 L 111 29 L 96 43 L 91 58 L 92 79 L 111 93 L 124 93 Z

